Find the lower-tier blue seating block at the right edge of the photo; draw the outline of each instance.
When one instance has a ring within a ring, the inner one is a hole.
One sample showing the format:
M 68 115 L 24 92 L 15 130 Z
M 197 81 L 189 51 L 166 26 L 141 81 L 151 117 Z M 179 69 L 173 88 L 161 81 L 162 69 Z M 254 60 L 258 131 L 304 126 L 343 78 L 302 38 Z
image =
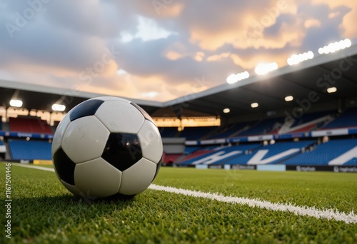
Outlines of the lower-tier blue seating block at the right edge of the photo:
M 283 163 L 286 165 L 327 166 L 329 162 L 353 148 L 357 148 L 357 139 L 335 139 L 328 141 L 327 143 L 317 145 L 313 151 L 301 153 L 296 157 L 284 161 Z M 354 158 L 338 158 L 338 162 L 343 163 L 343 161 L 346 161 L 343 165 L 353 165 L 353 163 L 357 163 L 356 158 L 357 153 Z

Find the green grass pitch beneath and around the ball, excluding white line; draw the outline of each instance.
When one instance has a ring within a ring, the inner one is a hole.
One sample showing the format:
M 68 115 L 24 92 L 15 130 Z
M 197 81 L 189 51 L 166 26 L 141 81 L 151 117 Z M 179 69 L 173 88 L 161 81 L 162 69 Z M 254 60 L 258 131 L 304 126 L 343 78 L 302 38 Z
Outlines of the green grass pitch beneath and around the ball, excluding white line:
M 1 205 L 5 170 L 1 163 Z M 357 208 L 353 173 L 161 168 L 154 184 L 347 214 Z M 88 203 L 72 196 L 55 173 L 14 165 L 11 198 L 11 243 L 357 243 L 357 223 L 159 190 Z M 4 230 L 0 243 L 9 242 Z

